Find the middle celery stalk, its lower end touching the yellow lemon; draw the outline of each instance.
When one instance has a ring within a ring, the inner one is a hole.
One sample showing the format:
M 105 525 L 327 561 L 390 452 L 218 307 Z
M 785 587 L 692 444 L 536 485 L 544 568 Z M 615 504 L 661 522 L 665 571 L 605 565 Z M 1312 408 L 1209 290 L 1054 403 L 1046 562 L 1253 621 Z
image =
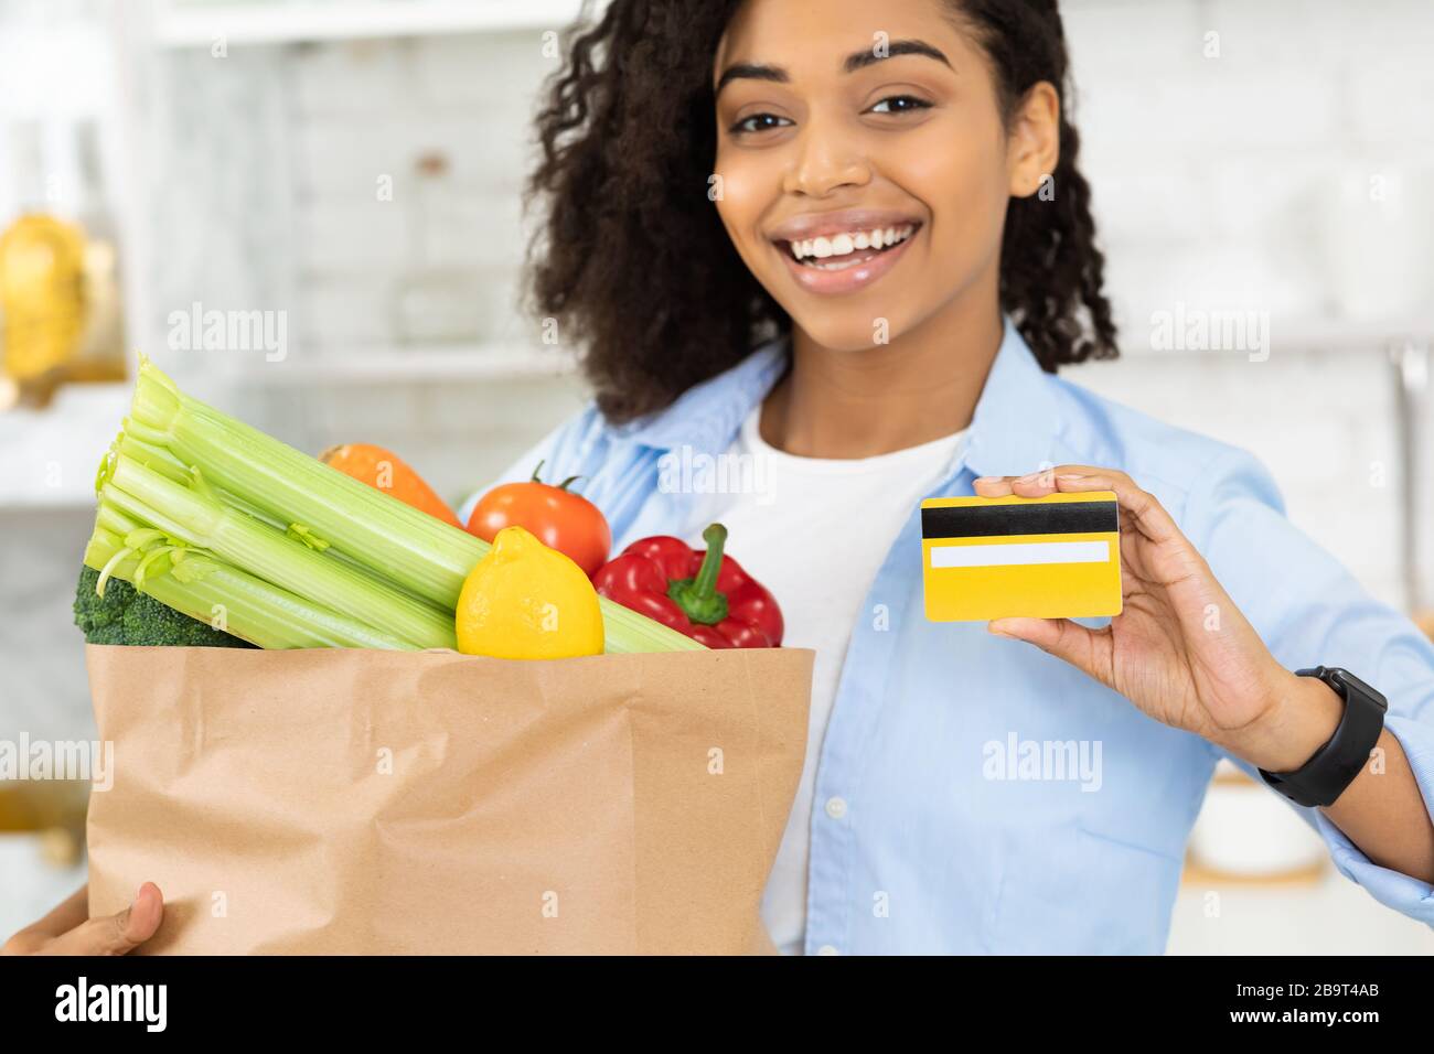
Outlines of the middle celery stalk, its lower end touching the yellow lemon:
M 380 627 L 417 648 L 453 648 L 453 615 L 409 597 L 389 582 L 225 506 L 212 495 L 186 488 L 148 469 L 129 455 L 116 455 L 100 489 L 102 502 L 145 526 L 333 611 Z

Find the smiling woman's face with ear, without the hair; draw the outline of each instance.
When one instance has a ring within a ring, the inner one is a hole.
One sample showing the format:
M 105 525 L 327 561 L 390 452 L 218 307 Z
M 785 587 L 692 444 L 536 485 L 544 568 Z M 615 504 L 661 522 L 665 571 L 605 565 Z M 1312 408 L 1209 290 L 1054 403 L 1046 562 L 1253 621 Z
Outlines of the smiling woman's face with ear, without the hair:
M 1035 162 L 942 0 L 747 0 L 713 79 L 717 211 L 816 343 L 895 340 L 994 280 Z

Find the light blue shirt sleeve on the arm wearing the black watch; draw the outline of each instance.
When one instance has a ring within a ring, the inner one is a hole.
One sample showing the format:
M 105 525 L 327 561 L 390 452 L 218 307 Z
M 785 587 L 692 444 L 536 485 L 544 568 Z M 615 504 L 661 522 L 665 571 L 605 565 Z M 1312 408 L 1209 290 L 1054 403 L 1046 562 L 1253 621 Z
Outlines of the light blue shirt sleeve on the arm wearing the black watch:
M 1210 486 L 1192 495 L 1186 511 L 1186 536 L 1282 665 L 1344 667 L 1384 693 L 1390 701 L 1385 727 L 1408 756 L 1428 810 L 1434 803 L 1434 644 L 1285 518 L 1279 489 L 1256 457 L 1230 450 L 1206 479 Z M 1263 786 L 1255 766 L 1230 760 Z M 1283 794 L 1281 800 L 1288 802 Z M 1434 926 L 1434 886 L 1371 862 L 1318 809 L 1289 806 L 1325 840 L 1345 878 L 1381 903 Z

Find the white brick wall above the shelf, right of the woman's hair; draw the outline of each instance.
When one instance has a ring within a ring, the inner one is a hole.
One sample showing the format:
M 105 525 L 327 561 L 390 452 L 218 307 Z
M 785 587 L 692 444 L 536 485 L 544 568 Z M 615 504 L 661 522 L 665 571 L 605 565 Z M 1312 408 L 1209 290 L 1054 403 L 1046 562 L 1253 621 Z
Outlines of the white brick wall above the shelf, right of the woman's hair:
M 1390 307 L 1395 288 L 1400 310 L 1423 305 L 1434 7 L 1077 0 L 1065 11 L 1123 315 L 1182 298 L 1318 318 Z M 1215 59 L 1202 50 L 1210 32 Z M 1401 171 L 1397 201 L 1361 194 Z

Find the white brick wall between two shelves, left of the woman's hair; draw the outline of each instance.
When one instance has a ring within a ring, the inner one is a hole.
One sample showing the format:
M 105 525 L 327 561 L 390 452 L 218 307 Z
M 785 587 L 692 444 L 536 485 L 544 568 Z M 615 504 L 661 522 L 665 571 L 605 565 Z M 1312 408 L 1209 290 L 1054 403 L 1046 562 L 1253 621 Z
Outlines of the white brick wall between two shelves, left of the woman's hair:
M 535 33 L 294 54 L 300 311 L 313 346 L 521 338 L 519 185 L 552 69 Z M 437 168 L 439 171 L 433 171 Z M 391 195 L 380 195 L 380 179 Z M 366 307 L 348 314 L 350 293 Z

